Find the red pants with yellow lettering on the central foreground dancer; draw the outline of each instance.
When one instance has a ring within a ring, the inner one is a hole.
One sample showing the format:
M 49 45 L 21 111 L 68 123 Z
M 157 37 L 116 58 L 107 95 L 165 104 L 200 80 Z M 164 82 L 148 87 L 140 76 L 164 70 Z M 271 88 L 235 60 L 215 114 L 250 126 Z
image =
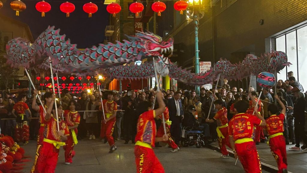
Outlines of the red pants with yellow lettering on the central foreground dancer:
M 164 173 L 164 168 L 153 149 L 135 145 L 134 155 L 137 173 Z

